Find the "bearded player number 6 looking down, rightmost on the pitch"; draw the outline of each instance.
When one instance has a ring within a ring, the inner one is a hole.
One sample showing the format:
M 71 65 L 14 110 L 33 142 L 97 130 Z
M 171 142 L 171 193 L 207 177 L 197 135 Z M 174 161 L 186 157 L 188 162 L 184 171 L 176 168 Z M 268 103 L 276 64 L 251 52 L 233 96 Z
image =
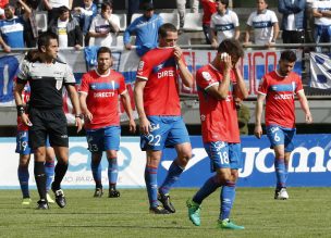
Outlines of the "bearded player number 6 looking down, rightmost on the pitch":
M 274 150 L 274 171 L 277 185 L 274 199 L 289 199 L 286 191 L 287 168 L 291 152 L 294 149 L 295 105 L 297 95 L 306 115 L 306 123 L 312 122 L 307 98 L 301 77 L 292 72 L 296 61 L 295 52 L 286 50 L 281 53 L 279 68 L 266 74 L 259 85 L 256 103 L 256 124 L 254 134 L 261 138 L 261 115 L 266 99 L 266 129 L 271 148 Z

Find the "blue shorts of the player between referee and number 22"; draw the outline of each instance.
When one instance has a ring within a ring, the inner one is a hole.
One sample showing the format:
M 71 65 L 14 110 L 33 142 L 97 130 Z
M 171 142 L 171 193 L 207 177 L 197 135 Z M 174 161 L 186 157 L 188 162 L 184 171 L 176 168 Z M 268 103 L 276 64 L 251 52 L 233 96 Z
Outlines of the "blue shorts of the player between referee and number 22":
M 120 126 L 108 126 L 99 129 L 86 130 L 88 150 L 96 153 L 100 153 L 106 150 L 119 150 L 120 137 Z

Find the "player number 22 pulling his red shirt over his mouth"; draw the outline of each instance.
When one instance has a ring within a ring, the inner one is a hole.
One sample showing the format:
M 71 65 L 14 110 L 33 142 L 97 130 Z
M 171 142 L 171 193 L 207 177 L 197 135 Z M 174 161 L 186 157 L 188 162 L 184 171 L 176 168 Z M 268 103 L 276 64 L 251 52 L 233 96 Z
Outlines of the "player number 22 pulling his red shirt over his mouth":
M 175 212 L 169 191 L 192 156 L 188 133 L 181 116 L 177 86 L 179 75 L 187 87 L 192 87 L 193 76 L 181 48 L 176 46 L 177 38 L 174 25 L 166 23 L 160 26 L 159 47 L 142 58 L 134 89 L 139 115 L 140 148 L 147 155 L 145 181 L 149 211 L 155 214 Z M 157 174 L 164 147 L 174 147 L 177 158 L 169 167 L 158 196 Z

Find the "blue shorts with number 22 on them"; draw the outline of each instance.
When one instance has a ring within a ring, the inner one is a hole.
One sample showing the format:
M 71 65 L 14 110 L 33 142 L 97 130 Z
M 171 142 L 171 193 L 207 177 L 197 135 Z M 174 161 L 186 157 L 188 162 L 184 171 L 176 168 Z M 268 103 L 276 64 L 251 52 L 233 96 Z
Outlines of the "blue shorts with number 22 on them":
M 176 145 L 189 142 L 189 136 L 182 116 L 147 116 L 151 129 L 140 135 L 140 148 L 146 150 L 163 150 Z

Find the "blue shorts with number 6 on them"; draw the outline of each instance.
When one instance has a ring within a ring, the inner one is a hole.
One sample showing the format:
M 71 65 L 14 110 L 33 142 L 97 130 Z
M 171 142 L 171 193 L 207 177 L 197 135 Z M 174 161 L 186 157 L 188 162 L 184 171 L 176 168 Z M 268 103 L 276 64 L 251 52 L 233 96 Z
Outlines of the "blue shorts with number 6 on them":
M 284 145 L 285 152 L 292 152 L 294 150 L 292 139 L 295 131 L 295 128 L 285 128 L 278 125 L 267 126 L 267 136 L 270 140 L 271 148 L 279 145 Z

